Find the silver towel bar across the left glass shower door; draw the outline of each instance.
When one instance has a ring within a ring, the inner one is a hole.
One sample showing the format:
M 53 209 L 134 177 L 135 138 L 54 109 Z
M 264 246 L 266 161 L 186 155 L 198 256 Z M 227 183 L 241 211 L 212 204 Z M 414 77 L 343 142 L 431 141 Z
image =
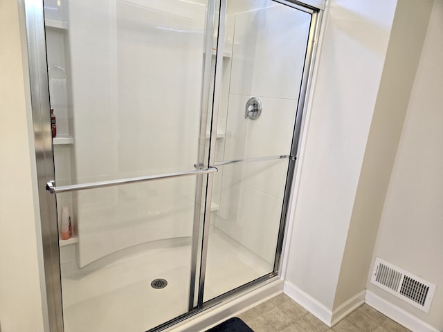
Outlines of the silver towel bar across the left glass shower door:
M 75 192 L 78 190 L 96 189 L 96 188 L 102 188 L 102 187 L 112 187 L 114 185 L 127 185 L 129 183 L 154 181 L 154 180 L 160 180 L 162 178 L 179 178 L 181 176 L 208 174 L 208 173 L 214 173 L 217 171 L 218 171 L 218 169 L 216 167 L 208 167 L 207 169 L 199 169 L 199 170 L 188 171 L 188 172 L 149 175 L 149 176 L 141 176 L 138 178 L 122 178 L 122 179 L 118 179 L 118 180 L 100 181 L 100 182 L 92 182 L 92 183 L 81 183 L 79 185 L 63 185 L 60 187 L 55 187 L 54 181 L 50 181 L 50 182 L 46 183 L 46 190 L 48 190 L 48 192 L 51 192 L 51 194 L 59 194 L 60 192 Z

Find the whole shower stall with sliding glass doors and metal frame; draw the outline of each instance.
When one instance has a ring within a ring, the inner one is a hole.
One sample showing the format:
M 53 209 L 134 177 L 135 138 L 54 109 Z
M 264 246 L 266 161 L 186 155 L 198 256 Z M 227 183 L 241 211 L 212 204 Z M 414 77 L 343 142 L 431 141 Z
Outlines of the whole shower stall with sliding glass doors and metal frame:
M 278 278 L 318 11 L 25 5 L 51 331 L 161 331 Z

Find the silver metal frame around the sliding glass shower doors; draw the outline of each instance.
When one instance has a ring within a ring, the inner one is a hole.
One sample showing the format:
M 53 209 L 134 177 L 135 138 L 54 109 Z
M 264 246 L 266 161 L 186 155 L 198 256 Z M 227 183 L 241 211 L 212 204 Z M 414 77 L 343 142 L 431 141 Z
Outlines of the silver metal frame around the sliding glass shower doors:
M 53 159 L 53 142 L 51 135 L 51 117 L 48 114 L 48 109 L 50 109 L 49 102 L 49 86 L 48 86 L 48 68 L 46 63 L 46 33 L 45 33 L 45 22 L 44 22 L 44 8 L 43 0 L 23 0 L 24 10 L 25 10 L 25 20 L 26 20 L 26 35 L 27 35 L 27 51 L 28 51 L 28 64 L 29 64 L 29 79 L 30 79 L 30 89 L 31 89 L 31 107 L 33 114 L 33 127 L 35 135 L 35 156 L 37 164 L 37 184 L 39 193 L 39 211 L 41 219 L 42 228 L 42 246 L 43 246 L 43 266 L 44 266 L 44 282 L 46 286 L 46 292 L 42 292 L 42 302 L 44 307 L 44 325 L 45 330 L 51 332 L 62 332 L 64 331 L 63 322 L 63 307 L 62 307 L 62 284 L 61 284 L 61 270 L 60 270 L 60 247 L 59 247 L 59 235 L 57 228 L 57 203 L 55 192 L 62 192 L 62 187 L 48 188 L 48 183 L 51 183 L 55 179 L 55 169 L 54 169 L 54 159 Z M 215 165 L 215 138 L 217 131 L 217 115 L 219 109 L 219 97 L 220 97 L 220 87 L 221 87 L 221 66 L 223 57 L 223 45 L 224 42 L 224 31 L 226 25 L 226 3 L 227 0 L 219 0 L 219 14 L 218 14 L 218 33 L 217 33 L 217 53 L 215 57 L 215 73 L 213 80 L 210 80 L 209 84 L 213 85 L 212 95 L 208 94 L 208 98 L 202 96 L 202 104 L 207 103 L 208 107 L 206 113 L 204 113 L 204 108 L 202 108 L 201 118 L 204 119 L 211 116 L 210 122 L 210 147 L 209 156 L 207 160 L 201 160 L 201 154 L 198 157 L 197 170 L 195 174 L 197 175 L 197 181 L 199 177 L 204 176 L 207 173 L 208 179 L 206 183 L 206 205 L 204 212 L 204 222 L 194 221 L 194 239 L 192 244 L 192 271 L 191 275 L 191 287 L 190 287 L 190 298 L 189 298 L 189 311 L 179 317 L 174 318 L 169 322 L 165 322 L 160 326 L 157 326 L 155 331 L 161 331 L 166 329 L 177 322 L 185 320 L 186 318 L 201 312 L 202 310 L 219 304 L 224 301 L 227 297 L 233 294 L 237 294 L 244 291 L 247 288 L 257 286 L 263 282 L 269 281 L 270 279 L 276 278 L 280 275 L 282 268 L 282 249 L 284 245 L 284 234 L 287 228 L 287 217 L 289 209 L 289 201 L 291 200 L 291 193 L 293 190 L 294 174 L 296 169 L 296 160 L 298 154 L 298 145 L 300 140 L 300 133 L 302 130 L 302 123 L 304 122 L 304 112 L 303 110 L 307 104 L 307 93 L 309 91 L 309 86 L 311 85 L 311 73 L 314 69 L 314 54 L 316 53 L 316 40 L 320 33 L 320 21 L 323 16 L 322 8 L 315 8 L 309 6 L 306 3 L 302 3 L 297 0 L 272 0 L 276 3 L 281 3 L 282 5 L 289 6 L 295 10 L 302 10 L 311 14 L 311 26 L 309 28 L 309 36 L 307 41 L 307 49 L 305 55 L 305 64 L 302 73 L 302 83 L 300 87 L 297 113 L 296 113 L 296 123 L 293 131 L 293 139 L 291 143 L 291 155 L 285 156 L 289 158 L 289 167 L 287 172 L 287 180 L 284 189 L 284 199 L 282 204 L 282 214 L 280 218 L 280 228 L 278 230 L 278 242 L 275 250 L 275 261 L 273 266 L 273 271 L 267 275 L 264 275 L 258 279 L 255 279 L 243 286 L 239 286 L 228 293 L 219 295 L 214 299 L 210 299 L 207 302 L 203 301 L 204 295 L 204 282 L 205 282 L 205 272 L 206 272 L 206 254 L 208 249 L 208 232 L 209 232 L 209 222 L 210 222 L 210 202 L 212 194 L 212 184 L 213 184 L 213 174 L 211 165 Z M 215 3 L 216 0 L 209 0 L 209 3 Z M 208 6 L 210 7 L 210 6 Z M 213 5 L 213 7 L 215 7 Z M 215 10 L 215 8 L 213 8 Z M 208 14 L 208 17 L 210 14 Z M 212 39 L 213 28 L 215 26 L 215 19 L 217 15 L 214 14 L 213 21 L 206 23 L 206 33 L 210 30 L 210 39 Z M 208 26 L 210 25 L 210 28 Z M 208 36 L 206 36 L 208 37 Z M 206 38 L 208 42 L 209 37 Z M 209 46 L 205 44 L 206 49 L 211 49 L 212 44 Z M 206 58 L 205 66 L 211 64 L 211 54 L 212 52 L 207 52 L 209 54 L 209 60 Z M 207 71 L 210 71 L 205 67 L 206 75 Z M 218 73 L 218 74 L 217 74 Z M 212 76 L 212 75 L 210 75 Z M 212 77 L 211 77 L 212 78 Z M 204 80 L 204 84 L 208 84 Z M 206 87 L 204 86 L 204 89 Z M 210 88 L 208 88 L 210 91 Z M 202 123 L 204 121 L 202 120 Z M 206 125 L 205 130 L 201 129 L 201 133 L 206 136 Z M 200 133 L 200 134 L 201 134 Z M 200 135 L 201 136 L 201 135 Z M 199 165 L 207 165 L 208 169 L 201 169 Z M 186 175 L 192 175 L 191 172 Z M 166 174 L 169 177 L 177 176 L 177 174 Z M 183 174 L 179 174 L 183 176 Z M 147 177 L 149 178 L 149 176 Z M 146 181 L 145 179 L 139 179 L 139 181 Z M 135 182 L 135 181 L 133 181 Z M 65 188 L 66 189 L 66 188 Z M 53 191 L 51 194 L 50 191 Z M 198 192 L 198 189 L 197 189 Z M 197 202 L 198 203 L 198 202 Z M 196 203 L 196 204 L 197 204 Z M 197 210 L 197 205 L 196 205 Z M 195 234 L 199 225 L 202 225 L 203 233 L 201 243 L 199 237 Z M 192 280 L 193 279 L 193 280 Z M 195 303 L 195 291 L 193 287 L 196 285 L 196 280 L 198 279 L 198 293 L 197 293 L 197 304 Z M 46 306 L 46 308 L 45 308 Z M 47 311 L 46 311 L 47 310 Z M 47 314 L 47 319 L 46 319 Z

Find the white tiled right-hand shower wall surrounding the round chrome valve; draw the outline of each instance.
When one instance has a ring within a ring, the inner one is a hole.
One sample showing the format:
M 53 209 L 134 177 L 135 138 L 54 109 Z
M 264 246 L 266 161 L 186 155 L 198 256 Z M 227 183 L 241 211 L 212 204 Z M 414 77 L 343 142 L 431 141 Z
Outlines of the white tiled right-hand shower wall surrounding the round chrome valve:
M 237 6 L 245 12 L 235 15 L 225 160 L 290 154 L 310 15 L 271 1 L 260 5 Z M 244 105 L 252 96 L 262 100 L 262 115 L 245 120 Z M 217 226 L 269 262 L 287 165 L 239 163 L 223 170 Z

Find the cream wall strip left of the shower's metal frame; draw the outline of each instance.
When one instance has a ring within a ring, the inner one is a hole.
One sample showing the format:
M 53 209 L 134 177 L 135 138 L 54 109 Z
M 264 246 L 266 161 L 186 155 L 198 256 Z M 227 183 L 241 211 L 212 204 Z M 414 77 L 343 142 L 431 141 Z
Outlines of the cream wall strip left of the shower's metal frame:
M 15 0 L 0 2 L 0 40 L 0 330 L 43 331 L 30 96 Z

